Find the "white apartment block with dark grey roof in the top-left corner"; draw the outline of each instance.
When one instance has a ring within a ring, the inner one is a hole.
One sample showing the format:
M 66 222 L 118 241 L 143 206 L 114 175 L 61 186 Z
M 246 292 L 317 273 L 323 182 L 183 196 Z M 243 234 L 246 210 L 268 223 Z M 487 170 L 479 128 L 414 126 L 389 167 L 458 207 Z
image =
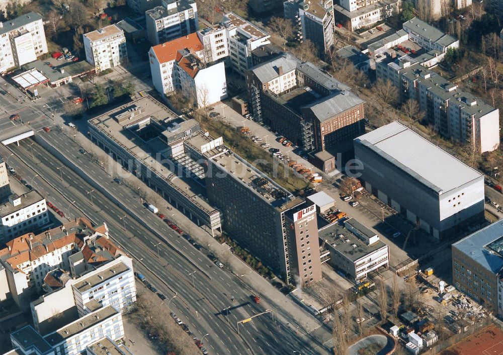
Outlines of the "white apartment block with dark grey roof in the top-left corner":
M 19 69 L 47 53 L 44 23 L 40 14 L 30 12 L 0 22 L 0 73 Z

